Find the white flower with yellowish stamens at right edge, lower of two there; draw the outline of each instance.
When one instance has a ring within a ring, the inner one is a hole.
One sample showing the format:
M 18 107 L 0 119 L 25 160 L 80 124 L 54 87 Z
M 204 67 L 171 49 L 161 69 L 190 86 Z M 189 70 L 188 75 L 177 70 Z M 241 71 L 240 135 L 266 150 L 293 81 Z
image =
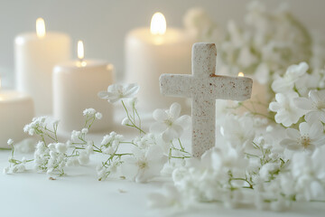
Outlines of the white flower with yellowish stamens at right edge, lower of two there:
M 299 131 L 294 128 L 287 128 L 285 132 L 288 138 L 284 138 L 280 145 L 290 150 L 307 150 L 311 152 L 316 146 L 325 144 L 323 128 L 320 121 L 315 121 L 311 125 L 303 122 L 299 125 Z

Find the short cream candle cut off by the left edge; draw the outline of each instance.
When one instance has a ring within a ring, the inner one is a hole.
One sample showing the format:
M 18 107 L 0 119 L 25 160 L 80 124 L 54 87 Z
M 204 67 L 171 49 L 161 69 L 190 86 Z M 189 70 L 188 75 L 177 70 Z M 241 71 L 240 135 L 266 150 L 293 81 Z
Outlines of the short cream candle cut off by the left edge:
M 9 147 L 9 138 L 19 142 L 27 137 L 23 127 L 32 121 L 33 116 L 32 98 L 22 92 L 1 90 L 0 80 L 0 147 Z

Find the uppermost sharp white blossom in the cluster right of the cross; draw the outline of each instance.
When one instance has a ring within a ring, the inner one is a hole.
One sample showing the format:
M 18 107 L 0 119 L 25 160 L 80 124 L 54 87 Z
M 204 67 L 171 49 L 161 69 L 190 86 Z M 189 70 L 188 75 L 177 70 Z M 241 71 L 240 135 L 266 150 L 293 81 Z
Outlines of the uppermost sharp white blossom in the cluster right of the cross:
M 278 77 L 272 83 L 272 90 L 274 92 L 287 92 L 292 91 L 294 82 L 299 80 L 302 75 L 308 71 L 309 66 L 306 62 L 301 62 L 299 65 L 290 66 L 285 72 L 283 77 Z

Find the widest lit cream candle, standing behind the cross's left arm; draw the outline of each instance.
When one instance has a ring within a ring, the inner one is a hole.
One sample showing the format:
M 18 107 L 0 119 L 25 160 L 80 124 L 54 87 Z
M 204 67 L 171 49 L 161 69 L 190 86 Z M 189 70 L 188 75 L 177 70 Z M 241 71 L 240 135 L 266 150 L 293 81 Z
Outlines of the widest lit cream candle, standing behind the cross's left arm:
M 151 28 L 138 28 L 125 38 L 125 80 L 140 86 L 139 108 L 167 109 L 172 102 L 186 106 L 186 99 L 163 97 L 159 77 L 163 73 L 190 74 L 192 41 L 181 29 L 166 28 L 161 13 L 153 14 Z

